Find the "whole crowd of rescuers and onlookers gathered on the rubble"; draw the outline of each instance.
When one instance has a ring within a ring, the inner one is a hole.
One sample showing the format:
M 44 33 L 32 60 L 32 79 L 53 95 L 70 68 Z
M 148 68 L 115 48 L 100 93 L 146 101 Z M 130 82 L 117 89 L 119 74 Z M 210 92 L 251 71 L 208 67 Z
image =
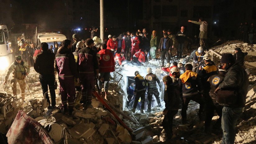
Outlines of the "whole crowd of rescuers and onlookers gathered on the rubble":
M 221 63 L 215 65 L 212 56 L 204 52 L 207 22 L 202 19 L 199 19 L 199 22 L 191 20 L 188 22 L 200 25 L 200 47 L 194 54 L 193 65 L 186 64 L 185 59 L 182 59 L 184 40 L 187 37 L 184 27 L 181 27 L 176 35 L 172 34 L 171 30 L 164 29 L 159 44 L 156 31 L 152 32 L 151 37 L 146 29 L 143 29 L 142 34 L 140 31 L 131 34 L 128 31 L 118 37 L 109 35 L 107 42 L 101 42 L 101 39 L 95 36 L 97 29 L 94 29 L 91 38 L 80 41 L 78 35 L 73 34 L 74 43 L 66 39 L 60 46 L 56 43 L 54 50 L 53 46 L 49 48 L 47 43 L 41 43 L 39 48 L 33 45 L 29 48 L 25 42 L 20 44 L 21 53 L 11 64 L 4 83 L 7 83 L 9 75 L 13 72 L 11 79 L 13 95 L 17 95 L 16 83 L 19 83 L 22 99 L 25 100 L 25 76 L 29 74 L 30 66 L 33 65 L 34 70 L 39 73 L 43 95 L 50 104 L 48 108 L 53 109 L 56 105 L 55 74 L 57 73 L 61 109 L 64 114 L 71 115 L 73 107 L 79 103 L 83 103 L 84 109 L 92 107 L 95 85 L 102 97 L 107 99 L 110 73 L 115 71 L 115 67 L 122 65 L 123 61 L 132 61 L 138 66 L 145 65 L 146 60 L 156 59 L 155 53 L 158 51 L 161 53 L 162 70 L 169 72 L 162 78 L 165 102 L 163 110 L 165 117 L 162 125 L 167 137 L 172 137 L 172 121 L 180 109 L 180 104 L 182 124 L 186 124 L 188 105 L 193 100 L 200 105 L 198 115 L 199 120 L 205 120 L 205 132 L 210 132 L 212 117 L 216 111 L 220 118 L 215 126 L 222 125 L 222 143 L 234 143 L 235 124 L 244 110 L 249 85 L 248 74 L 243 66 L 246 53 L 237 47 L 234 56 L 223 54 Z M 170 64 L 170 57 L 174 56 L 171 51 L 176 47 L 176 43 L 178 61 Z M 34 52 L 34 55 L 28 55 L 29 52 L 25 54 L 26 50 L 22 50 L 24 47 L 27 51 L 31 49 L 30 53 Z M 165 58 L 167 58 L 167 67 L 164 67 Z M 140 99 L 140 112 L 144 113 L 146 91 L 148 111 L 151 111 L 153 95 L 158 106 L 161 107 L 157 84 L 160 92 L 162 84 L 157 75 L 153 74 L 152 68 L 148 67 L 147 73 L 142 77 L 139 71 L 135 71 L 135 87 L 133 83 L 128 89 L 128 97 L 134 96 L 132 112 L 135 112 Z

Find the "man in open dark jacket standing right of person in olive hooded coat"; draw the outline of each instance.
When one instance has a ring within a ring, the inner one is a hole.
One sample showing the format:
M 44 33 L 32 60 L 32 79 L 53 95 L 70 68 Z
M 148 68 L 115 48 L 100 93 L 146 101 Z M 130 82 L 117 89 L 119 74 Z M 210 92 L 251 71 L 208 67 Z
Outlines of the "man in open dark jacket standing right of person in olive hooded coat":
M 168 37 L 167 33 L 163 34 L 163 37 L 160 39 L 160 43 L 158 46 L 158 52 L 161 52 L 161 62 L 162 65 L 161 67 L 164 67 L 164 59 L 165 59 L 165 55 L 166 52 L 168 52 L 168 55 L 166 55 L 167 57 L 167 64 L 170 64 L 170 53 L 171 53 L 171 47 L 172 47 L 172 40 L 171 38 Z

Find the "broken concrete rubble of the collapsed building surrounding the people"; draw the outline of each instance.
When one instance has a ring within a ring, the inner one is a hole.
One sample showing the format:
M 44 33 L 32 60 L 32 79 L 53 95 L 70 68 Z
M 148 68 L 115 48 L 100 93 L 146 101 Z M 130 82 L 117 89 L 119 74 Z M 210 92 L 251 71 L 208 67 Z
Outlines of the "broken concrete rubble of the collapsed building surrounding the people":
M 230 41 L 212 47 L 206 53 L 209 53 L 215 64 L 218 64 L 221 55 L 234 53 L 235 47 L 240 47 L 243 52 L 248 52 L 248 55 L 245 56 L 245 66 L 250 70 L 246 106 L 236 126 L 235 143 L 254 143 L 256 142 L 256 45 Z M 191 55 L 190 53 L 185 55 L 187 55 L 185 59 L 187 63 L 192 63 L 190 59 L 193 52 Z M 177 61 L 177 59 L 172 58 L 171 62 L 173 61 Z M 6 134 L 9 143 L 18 143 L 23 140 L 22 137 L 27 137 L 24 140 L 30 140 L 24 141 L 26 143 L 149 144 L 165 142 L 165 132 L 161 125 L 164 118 L 162 111 L 165 108 L 162 100 L 163 90 L 160 92 L 162 107 L 158 107 L 153 96 L 151 112 L 140 114 L 137 110 L 132 113 L 127 102 L 127 88 L 131 83 L 134 83 L 134 72 L 138 70 L 144 77 L 147 74 L 147 67 L 152 68 L 153 73 L 158 76 L 160 81 L 167 74 L 161 70 L 159 61 L 149 61 L 147 66 L 135 66 L 126 62 L 111 73 L 108 100 L 103 102 L 101 98 L 95 96 L 92 100 L 94 108 L 82 110 L 81 107 L 77 106 L 73 115 L 60 113 L 60 97 L 56 97 L 56 106 L 58 107 L 54 110 L 48 110 L 49 104 L 43 97 L 39 74 L 30 68 L 31 72 L 26 78 L 25 103 L 21 101 L 20 95 L 12 97 L 9 94 L 12 93 L 10 82 L 7 83 L 6 87 L 1 85 L 3 92 L 0 93 L 0 132 Z M 1 73 L 1 81 L 4 75 L 4 72 Z M 164 88 L 162 81 L 161 84 Z M 147 96 L 145 97 L 144 110 L 147 110 Z M 191 101 L 187 110 L 188 124 L 184 125 L 181 124 L 181 109 L 178 111 L 173 120 L 172 143 L 220 143 L 222 129 L 213 131 L 211 134 L 203 133 L 204 122 L 199 121 L 198 110 L 199 104 Z M 216 114 L 213 121 L 217 119 Z M 33 126 L 28 128 L 31 129 L 30 133 L 34 133 L 34 137 L 39 138 L 32 139 L 29 134 L 23 136 L 25 134 L 22 134 L 22 129 L 27 123 Z M 15 129 L 16 131 L 14 131 Z

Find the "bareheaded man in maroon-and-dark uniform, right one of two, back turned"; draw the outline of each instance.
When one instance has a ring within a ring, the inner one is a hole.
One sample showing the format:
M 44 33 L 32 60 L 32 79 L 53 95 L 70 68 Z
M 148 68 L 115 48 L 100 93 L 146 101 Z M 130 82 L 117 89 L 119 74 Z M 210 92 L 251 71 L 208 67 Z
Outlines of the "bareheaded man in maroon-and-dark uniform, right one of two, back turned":
M 78 51 L 79 75 L 82 84 L 82 97 L 84 108 L 92 107 L 92 92 L 95 86 L 94 79 L 99 78 L 99 68 L 97 56 L 92 47 L 94 41 L 91 38 L 86 39 L 86 47 Z

